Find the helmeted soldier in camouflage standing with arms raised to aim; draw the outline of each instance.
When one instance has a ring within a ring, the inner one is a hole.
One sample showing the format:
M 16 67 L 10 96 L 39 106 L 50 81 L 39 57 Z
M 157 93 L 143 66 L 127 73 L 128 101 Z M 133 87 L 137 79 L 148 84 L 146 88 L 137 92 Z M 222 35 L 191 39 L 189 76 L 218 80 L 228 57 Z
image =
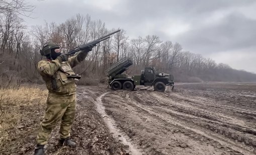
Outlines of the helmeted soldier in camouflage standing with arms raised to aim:
M 71 68 L 83 61 L 94 46 L 96 45 L 91 45 L 72 57 L 62 54 L 60 47 L 52 42 L 46 43 L 40 50 L 44 57 L 38 62 L 37 68 L 46 83 L 48 97 L 44 119 L 36 138 L 35 155 L 44 154 L 44 145 L 47 144 L 49 135 L 59 120 L 59 144 L 76 146 L 70 139 L 76 108 L 76 79 L 67 78 L 67 75 L 74 74 Z

